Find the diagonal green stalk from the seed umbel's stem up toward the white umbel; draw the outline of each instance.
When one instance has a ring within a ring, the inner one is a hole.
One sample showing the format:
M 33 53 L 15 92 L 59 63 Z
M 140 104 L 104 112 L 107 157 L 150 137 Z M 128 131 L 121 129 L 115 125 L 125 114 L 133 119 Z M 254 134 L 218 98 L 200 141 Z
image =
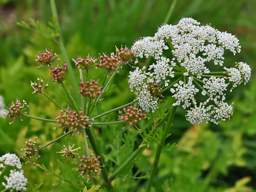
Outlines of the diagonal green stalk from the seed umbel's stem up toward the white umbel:
M 167 120 L 170 113 L 171 113 L 171 109 L 166 113 L 166 115 L 163 117 L 163 119 L 161 119 L 157 123 L 156 127 L 154 127 L 151 130 L 151 132 L 153 134 L 157 131 L 157 127 L 160 127 Z M 148 139 L 148 137 L 146 137 L 146 139 Z M 143 142 L 140 145 L 142 145 L 144 143 L 146 143 L 146 142 L 143 140 Z M 126 170 L 127 166 L 132 161 L 134 161 L 134 159 L 140 154 L 140 152 L 143 152 L 145 148 L 146 148 L 146 146 L 136 149 L 136 151 L 133 152 L 133 154 L 109 177 L 109 182 L 113 181 L 114 179 L 116 179 L 116 177 L 118 177 L 121 173 L 123 173 Z

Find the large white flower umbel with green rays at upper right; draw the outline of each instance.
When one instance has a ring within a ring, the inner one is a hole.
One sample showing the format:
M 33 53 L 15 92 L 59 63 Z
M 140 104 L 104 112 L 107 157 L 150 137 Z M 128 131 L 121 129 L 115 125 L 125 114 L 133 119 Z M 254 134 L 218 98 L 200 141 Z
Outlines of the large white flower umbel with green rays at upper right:
M 168 89 L 176 99 L 173 105 L 182 103 L 187 111 L 186 119 L 192 124 L 209 120 L 218 124 L 220 120 L 229 119 L 233 103 L 224 102 L 225 91 L 229 85 L 232 91 L 242 82 L 246 84 L 251 67 L 244 62 L 235 63 L 231 68 L 223 67 L 223 72 L 210 71 L 210 67 L 213 64 L 223 66 L 224 50 L 230 50 L 234 55 L 239 53 L 238 41 L 234 35 L 220 32 L 210 24 L 200 25 L 192 18 L 182 18 L 177 25 L 163 24 L 154 37 L 140 38 L 131 48 L 135 64 L 144 56 L 151 56 L 156 61 L 147 72 L 145 66 L 142 69 L 136 67 L 128 76 L 138 104 L 143 110 L 154 112 L 159 98 L 153 95 L 149 85 L 163 83 L 165 87 L 174 87 Z M 168 49 L 171 49 L 172 58 L 163 55 Z M 169 82 L 172 84 L 168 85 Z M 207 98 L 198 105 L 195 96 L 199 92 Z

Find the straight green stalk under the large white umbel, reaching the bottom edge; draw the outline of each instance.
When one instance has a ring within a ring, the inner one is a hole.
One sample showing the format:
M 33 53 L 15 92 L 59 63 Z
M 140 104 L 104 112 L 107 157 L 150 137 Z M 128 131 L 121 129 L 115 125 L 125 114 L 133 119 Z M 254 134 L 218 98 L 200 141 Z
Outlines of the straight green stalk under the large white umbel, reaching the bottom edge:
M 152 168 L 151 173 L 150 173 L 150 177 L 149 177 L 149 181 L 148 181 L 148 184 L 147 184 L 146 192 L 150 192 L 150 189 L 151 189 L 151 186 L 152 186 L 152 183 L 153 183 L 153 179 L 154 179 L 154 176 L 155 176 L 155 173 L 156 173 L 157 165 L 158 165 L 158 162 L 159 162 L 160 154 L 161 154 L 162 148 L 165 144 L 166 137 L 169 133 L 169 130 L 170 130 L 170 127 L 171 127 L 172 120 L 174 118 L 176 109 L 177 109 L 177 106 L 173 106 L 171 108 L 171 112 L 170 112 L 168 121 L 166 123 L 163 135 L 161 136 L 160 143 L 157 146 L 156 154 L 155 154 L 155 160 L 154 160 L 153 168 Z

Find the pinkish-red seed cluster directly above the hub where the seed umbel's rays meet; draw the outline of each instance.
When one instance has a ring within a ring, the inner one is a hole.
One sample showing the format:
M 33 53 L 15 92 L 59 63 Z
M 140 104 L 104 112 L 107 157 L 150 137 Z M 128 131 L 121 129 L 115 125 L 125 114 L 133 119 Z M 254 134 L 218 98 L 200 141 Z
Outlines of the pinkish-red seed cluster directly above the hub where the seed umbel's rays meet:
M 95 97 L 102 94 L 104 91 L 101 91 L 102 87 L 98 87 L 98 81 L 95 81 L 94 79 L 89 82 L 82 82 L 80 81 L 80 90 L 79 93 L 83 95 L 84 97 L 90 97 L 93 98 L 93 102 L 95 102 Z

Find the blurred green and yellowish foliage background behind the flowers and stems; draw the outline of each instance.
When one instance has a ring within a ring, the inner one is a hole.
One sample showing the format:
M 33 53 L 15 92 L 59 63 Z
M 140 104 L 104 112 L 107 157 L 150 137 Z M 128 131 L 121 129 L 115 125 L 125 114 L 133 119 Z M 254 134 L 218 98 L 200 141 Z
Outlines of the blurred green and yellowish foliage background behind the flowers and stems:
M 98 53 L 115 51 L 115 45 L 132 46 L 134 40 L 142 36 L 153 36 L 168 13 L 171 0 L 56 0 L 58 19 L 60 21 L 64 44 L 67 54 L 71 58 L 77 55 L 98 57 Z M 181 17 L 192 17 L 201 24 L 211 23 L 220 31 L 236 34 L 240 40 L 241 53 L 233 56 L 225 53 L 224 65 L 232 67 L 234 62 L 247 62 L 256 67 L 256 1 L 255 0 L 178 0 L 168 24 L 177 24 Z M 59 46 L 52 40 L 33 33 L 16 25 L 17 22 L 29 23 L 34 18 L 42 23 L 45 29 L 48 21 L 52 21 L 49 1 L 33 0 L 0 0 L 0 95 L 8 106 L 16 97 L 24 99 L 30 105 L 29 115 L 54 119 L 58 109 L 48 102 L 43 95 L 32 95 L 30 81 L 37 77 L 51 81 L 47 68 L 36 69 L 34 59 L 38 52 L 50 48 L 62 55 Z M 63 59 L 62 59 L 63 61 Z M 71 61 L 72 62 L 72 61 Z M 145 62 L 149 62 L 146 60 Z M 141 62 L 140 62 L 141 63 Z M 215 66 L 214 66 L 215 67 Z M 78 70 L 75 69 L 77 80 Z M 104 101 L 94 111 L 94 115 L 131 102 L 134 94 L 127 84 L 128 66 L 125 66 L 114 84 L 104 93 Z M 103 71 L 90 72 L 89 77 L 101 78 Z M 66 84 L 72 91 L 69 75 Z M 66 106 L 67 98 L 64 91 L 49 82 L 47 94 L 60 105 Z M 74 93 L 75 94 L 75 93 Z M 169 107 L 170 95 L 161 107 Z M 120 99 L 122 98 L 122 99 Z M 185 111 L 178 108 L 167 142 L 178 142 L 180 145 L 170 152 L 161 154 L 159 169 L 153 186 L 159 192 L 247 192 L 256 189 L 256 79 L 254 70 L 250 82 L 234 89 L 227 95 L 228 103 L 234 101 L 233 117 L 221 122 L 218 126 L 203 124 L 192 126 L 185 121 Z M 156 111 L 156 115 L 161 111 Z M 117 113 L 101 120 L 117 120 Z M 24 118 L 24 122 L 17 120 L 9 125 L 10 120 L 0 118 L 0 155 L 7 151 L 20 155 L 20 148 L 24 147 L 25 139 L 38 136 L 38 142 L 45 144 L 61 135 L 62 130 L 53 130 L 55 125 Z M 142 122 L 141 127 L 148 127 L 150 123 Z M 96 129 L 103 135 L 98 138 L 99 146 L 104 154 L 110 154 L 109 144 L 116 135 L 123 137 L 122 126 Z M 110 130 L 111 129 L 111 130 Z M 136 147 L 141 137 L 134 132 L 126 132 L 135 139 Z M 73 138 L 83 145 L 83 138 Z M 72 141 L 72 140 L 71 140 Z M 61 150 L 65 139 L 41 151 L 39 164 L 49 167 L 49 162 L 56 164 L 56 159 L 63 160 L 56 151 Z M 120 141 L 120 145 L 123 145 Z M 150 172 L 155 149 L 150 147 L 131 172 L 143 167 L 144 174 Z M 113 152 L 111 152 L 111 155 Z M 147 160 L 149 159 L 149 160 Z M 106 159 L 107 160 L 107 159 Z M 145 162 L 146 163 L 140 163 Z M 48 163 L 45 163 L 48 162 Z M 66 162 L 66 161 L 63 161 Z M 109 161 L 108 161 L 109 162 Z M 68 163 L 73 166 L 72 162 Z M 111 165 L 109 163 L 109 165 Z M 45 172 L 32 165 L 24 166 L 28 172 L 29 184 L 43 183 L 41 191 L 78 191 L 72 184 L 52 186 L 54 176 L 46 176 Z M 110 172 L 113 170 L 109 170 Z M 130 173 L 129 173 L 130 174 Z M 123 182 L 115 180 L 113 191 L 143 191 L 146 180 L 129 178 Z M 1 182 L 3 178 L 0 178 Z M 65 187 L 64 187 L 65 186 Z M 2 190 L 0 186 L 0 190 Z M 104 191 L 104 189 L 102 189 Z

